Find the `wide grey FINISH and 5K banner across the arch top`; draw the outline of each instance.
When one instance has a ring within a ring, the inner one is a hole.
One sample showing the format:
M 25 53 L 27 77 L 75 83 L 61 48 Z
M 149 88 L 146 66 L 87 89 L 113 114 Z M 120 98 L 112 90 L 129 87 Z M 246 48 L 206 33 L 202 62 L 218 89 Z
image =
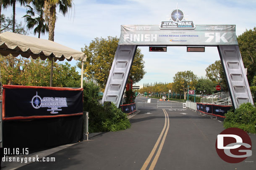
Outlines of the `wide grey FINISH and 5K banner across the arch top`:
M 160 29 L 159 25 L 121 25 L 119 45 L 238 45 L 235 25 L 196 25 L 195 29 Z

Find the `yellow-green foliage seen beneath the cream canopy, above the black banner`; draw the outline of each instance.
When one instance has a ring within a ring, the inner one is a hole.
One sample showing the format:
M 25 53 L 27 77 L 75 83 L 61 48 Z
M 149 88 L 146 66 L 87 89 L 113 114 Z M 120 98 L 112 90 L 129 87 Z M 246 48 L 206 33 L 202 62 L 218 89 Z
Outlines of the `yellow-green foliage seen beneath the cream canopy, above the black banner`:
M 67 62 L 64 64 L 54 63 L 54 66 L 56 76 L 53 82 L 55 86 L 80 86 L 80 76 L 75 66 L 71 66 Z M 48 86 L 50 82 L 50 63 L 39 58 L 33 60 L 24 57 L 1 56 L 0 68 L 3 84 Z

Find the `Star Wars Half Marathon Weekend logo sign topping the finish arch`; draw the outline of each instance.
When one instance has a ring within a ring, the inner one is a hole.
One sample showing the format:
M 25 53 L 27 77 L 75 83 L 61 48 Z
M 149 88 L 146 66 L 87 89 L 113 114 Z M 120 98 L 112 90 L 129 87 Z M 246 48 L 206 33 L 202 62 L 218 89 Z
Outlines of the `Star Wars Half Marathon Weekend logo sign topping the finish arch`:
M 170 13 L 169 21 L 161 21 L 160 29 L 195 29 L 193 21 L 184 20 L 185 14 L 181 9 L 174 9 Z

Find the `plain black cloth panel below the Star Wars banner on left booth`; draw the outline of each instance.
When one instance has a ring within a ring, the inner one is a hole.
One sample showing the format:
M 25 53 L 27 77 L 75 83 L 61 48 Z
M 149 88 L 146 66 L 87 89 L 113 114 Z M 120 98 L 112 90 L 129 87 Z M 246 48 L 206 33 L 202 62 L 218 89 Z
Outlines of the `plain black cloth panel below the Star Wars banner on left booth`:
M 83 115 L 3 121 L 3 147 L 28 148 L 29 154 L 83 140 Z M 12 151 L 12 149 L 10 149 Z M 10 152 L 13 156 L 15 153 Z

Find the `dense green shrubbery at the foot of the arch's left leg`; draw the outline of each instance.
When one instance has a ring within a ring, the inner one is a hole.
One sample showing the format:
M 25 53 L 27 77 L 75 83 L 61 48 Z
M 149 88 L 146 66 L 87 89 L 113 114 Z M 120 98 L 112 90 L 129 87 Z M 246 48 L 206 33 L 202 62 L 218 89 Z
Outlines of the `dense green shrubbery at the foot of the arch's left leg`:
M 89 132 L 108 132 L 131 127 L 125 113 L 112 103 L 99 104 L 99 87 L 92 82 L 84 84 L 84 111 L 89 112 Z

